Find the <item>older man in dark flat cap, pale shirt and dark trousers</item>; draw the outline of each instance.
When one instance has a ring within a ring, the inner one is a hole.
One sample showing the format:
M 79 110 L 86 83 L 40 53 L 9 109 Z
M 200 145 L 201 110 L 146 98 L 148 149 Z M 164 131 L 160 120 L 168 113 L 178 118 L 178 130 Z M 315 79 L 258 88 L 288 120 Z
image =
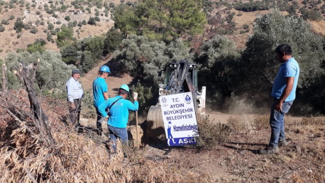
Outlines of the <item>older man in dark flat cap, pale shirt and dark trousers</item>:
M 78 81 L 80 78 L 80 71 L 77 69 L 72 70 L 72 76 L 66 83 L 68 91 L 68 103 L 70 118 L 72 124 L 75 124 L 75 127 L 78 127 L 81 111 L 81 98 L 84 95 L 81 83 Z

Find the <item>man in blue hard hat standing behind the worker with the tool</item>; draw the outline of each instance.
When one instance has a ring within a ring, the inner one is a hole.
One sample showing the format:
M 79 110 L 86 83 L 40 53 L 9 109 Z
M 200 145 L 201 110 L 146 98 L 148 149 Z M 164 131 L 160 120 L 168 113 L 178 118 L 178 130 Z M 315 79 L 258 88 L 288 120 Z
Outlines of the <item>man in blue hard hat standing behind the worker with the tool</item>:
M 98 106 L 105 102 L 105 100 L 108 99 L 107 94 L 107 84 L 106 84 L 106 78 L 108 77 L 108 74 L 110 73 L 110 68 L 106 65 L 103 65 L 99 69 L 99 77 L 97 77 L 93 82 L 93 96 L 94 96 L 94 106 L 96 108 L 96 114 L 97 114 L 97 134 L 100 136 L 103 132 L 102 128 L 102 122 L 104 120 L 104 117 L 101 116 L 101 114 L 98 111 Z M 106 111 L 106 114 L 108 112 Z

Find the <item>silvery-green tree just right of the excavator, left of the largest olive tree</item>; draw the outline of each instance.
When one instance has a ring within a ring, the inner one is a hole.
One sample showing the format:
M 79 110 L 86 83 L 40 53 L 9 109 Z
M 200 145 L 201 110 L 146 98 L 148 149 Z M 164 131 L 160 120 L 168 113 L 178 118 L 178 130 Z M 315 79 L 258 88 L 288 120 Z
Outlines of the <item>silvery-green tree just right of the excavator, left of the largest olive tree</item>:
M 199 85 L 209 86 L 207 104 L 228 113 L 230 99 L 236 87 L 237 62 L 240 54 L 233 41 L 216 35 L 200 47 L 196 62 L 201 65 Z

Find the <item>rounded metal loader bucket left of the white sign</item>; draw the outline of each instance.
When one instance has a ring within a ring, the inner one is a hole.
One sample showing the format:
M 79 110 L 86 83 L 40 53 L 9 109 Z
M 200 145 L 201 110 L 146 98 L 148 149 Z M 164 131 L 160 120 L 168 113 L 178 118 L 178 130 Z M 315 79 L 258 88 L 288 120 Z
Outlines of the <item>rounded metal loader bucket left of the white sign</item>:
M 151 106 L 147 116 L 147 137 L 165 134 L 161 106 Z

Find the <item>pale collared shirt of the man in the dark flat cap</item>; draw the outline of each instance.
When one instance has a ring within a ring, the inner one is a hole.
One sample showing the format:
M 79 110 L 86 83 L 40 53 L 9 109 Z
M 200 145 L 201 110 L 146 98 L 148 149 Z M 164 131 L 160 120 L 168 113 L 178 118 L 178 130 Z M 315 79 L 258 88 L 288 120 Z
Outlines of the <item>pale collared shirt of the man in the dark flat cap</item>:
M 81 83 L 71 77 L 65 84 L 68 91 L 68 100 L 73 102 L 73 99 L 80 99 L 84 95 L 84 90 L 82 89 Z

